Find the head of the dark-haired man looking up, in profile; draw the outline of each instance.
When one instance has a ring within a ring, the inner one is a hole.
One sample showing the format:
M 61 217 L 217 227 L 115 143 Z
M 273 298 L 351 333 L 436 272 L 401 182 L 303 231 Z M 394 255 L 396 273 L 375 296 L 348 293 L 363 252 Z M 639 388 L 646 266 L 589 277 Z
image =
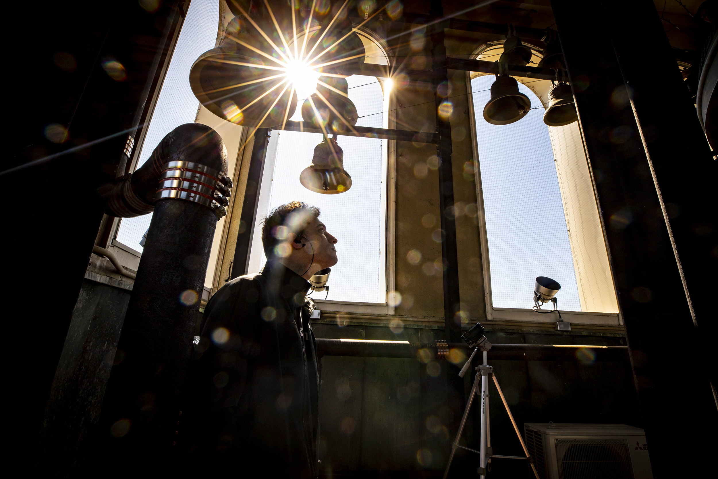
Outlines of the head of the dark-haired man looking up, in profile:
M 337 238 L 319 220 L 319 208 L 300 201 L 281 205 L 262 225 L 262 243 L 268 259 L 277 259 L 297 274 L 311 276 L 337 264 Z

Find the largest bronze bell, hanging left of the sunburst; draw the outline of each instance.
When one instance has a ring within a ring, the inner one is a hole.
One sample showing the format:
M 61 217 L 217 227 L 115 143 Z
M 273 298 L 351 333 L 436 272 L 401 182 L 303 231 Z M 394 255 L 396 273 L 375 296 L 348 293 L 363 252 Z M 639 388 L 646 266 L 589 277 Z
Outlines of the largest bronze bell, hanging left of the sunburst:
M 205 108 L 233 124 L 260 128 L 282 124 L 284 119 L 291 118 L 297 109 L 297 94 L 292 92 L 292 85 L 286 89 L 286 84 L 279 85 L 285 80 L 284 77 L 262 80 L 281 71 L 261 66 L 276 68 L 279 63 L 259 55 L 239 42 L 252 45 L 270 55 L 274 52 L 275 57 L 279 56 L 246 20 L 234 17 L 228 25 L 222 44 L 200 55 L 192 65 L 192 93 L 195 93 Z M 271 90 L 272 88 L 274 90 Z M 268 90 L 271 90 L 271 93 L 266 93 Z

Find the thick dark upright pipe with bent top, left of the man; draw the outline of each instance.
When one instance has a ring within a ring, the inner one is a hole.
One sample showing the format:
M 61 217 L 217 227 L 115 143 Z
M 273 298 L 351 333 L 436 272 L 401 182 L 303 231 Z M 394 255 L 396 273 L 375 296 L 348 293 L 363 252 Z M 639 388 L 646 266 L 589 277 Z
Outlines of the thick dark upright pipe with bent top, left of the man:
M 98 457 L 142 465 L 172 450 L 218 220 L 219 205 L 210 203 L 214 194 L 202 190 L 227 172 L 221 136 L 202 124 L 178 126 L 159 143 L 152 157 L 157 155 L 168 161 L 159 168 L 162 178 L 154 184 L 154 215 L 96 441 Z M 223 182 L 229 183 L 226 177 Z

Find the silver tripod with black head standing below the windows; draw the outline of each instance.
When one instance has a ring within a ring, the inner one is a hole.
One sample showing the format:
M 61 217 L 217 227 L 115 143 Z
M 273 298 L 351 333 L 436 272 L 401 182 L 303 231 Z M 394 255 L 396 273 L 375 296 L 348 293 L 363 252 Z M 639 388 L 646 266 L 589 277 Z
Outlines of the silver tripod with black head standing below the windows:
M 538 478 L 538 471 L 536 470 L 536 465 L 533 464 L 533 460 L 531 459 L 531 456 L 528 454 L 528 450 L 526 449 L 526 444 L 523 442 L 523 438 L 521 437 L 521 432 L 518 432 L 518 427 L 516 427 L 516 421 L 513 420 L 513 415 L 511 414 L 511 410 L 508 408 L 508 403 L 506 402 L 506 399 L 503 397 L 503 392 L 501 391 L 500 386 L 498 385 L 498 380 L 496 379 L 496 376 L 494 376 L 493 368 L 488 365 L 488 350 L 491 349 L 491 343 L 488 342 L 485 336 L 482 336 L 480 340 L 478 340 L 476 343 L 471 344 L 470 347 L 474 347 L 474 352 L 471 353 L 470 358 L 468 361 L 466 361 L 464 367 L 461 369 L 461 372 L 459 373 L 460 377 L 464 377 L 468 369 L 471 367 L 471 361 L 474 358 L 474 355 L 478 350 L 481 350 L 483 353 L 483 360 L 484 363 L 480 366 L 477 366 L 475 368 L 476 376 L 474 378 L 474 385 L 471 388 L 471 394 L 469 395 L 469 401 L 467 401 L 466 409 L 464 409 L 464 416 L 461 418 L 461 423 L 459 424 L 459 431 L 456 433 L 456 439 L 454 439 L 454 443 L 452 444 L 452 450 L 451 455 L 449 455 L 449 462 L 447 463 L 447 468 L 444 471 L 444 479 L 447 479 L 447 476 L 449 475 L 449 468 L 451 468 L 451 462 L 454 459 L 454 454 L 456 453 L 456 450 L 458 448 L 465 449 L 467 451 L 476 452 L 478 455 L 480 455 L 480 467 L 478 470 L 478 473 L 481 475 L 481 479 L 484 479 L 486 477 L 488 464 L 491 462 L 491 459 L 493 457 L 502 458 L 502 459 L 521 459 L 521 460 L 528 460 L 529 464 L 531 465 L 531 469 L 533 469 L 533 474 L 536 475 L 536 479 Z M 496 390 L 498 391 L 498 395 L 501 396 L 501 401 L 503 401 L 503 406 L 506 408 L 506 412 L 508 413 L 509 419 L 511 419 L 511 424 L 513 424 L 513 430 L 516 431 L 516 435 L 518 436 L 518 440 L 521 442 L 521 447 L 523 447 L 523 452 L 526 454 L 526 457 L 522 456 L 501 456 L 501 455 L 495 455 L 493 454 L 493 450 L 491 449 L 491 427 L 489 424 L 489 401 L 488 401 L 488 389 L 489 389 L 489 381 L 488 378 L 491 376 L 493 378 L 494 384 L 496 386 Z M 481 377 L 481 390 L 479 391 L 479 377 Z M 480 442 L 480 451 L 469 449 L 468 447 L 460 446 L 459 440 L 461 439 L 461 433 L 464 431 L 464 426 L 466 425 L 466 419 L 469 417 L 469 410 L 471 409 L 471 404 L 474 400 L 474 396 L 481 395 L 481 442 Z

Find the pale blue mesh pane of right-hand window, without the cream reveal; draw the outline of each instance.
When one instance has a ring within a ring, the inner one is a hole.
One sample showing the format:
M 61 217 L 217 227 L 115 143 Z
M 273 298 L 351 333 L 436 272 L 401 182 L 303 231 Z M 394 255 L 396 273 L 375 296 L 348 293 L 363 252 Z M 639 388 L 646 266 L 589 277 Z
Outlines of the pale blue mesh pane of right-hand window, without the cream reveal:
M 561 284 L 559 310 L 581 311 L 544 108 L 519 83 L 534 109 L 516 123 L 489 124 L 482 111 L 494 80 L 486 75 L 471 81 L 493 306 L 533 306 L 536 276 L 549 276 Z

